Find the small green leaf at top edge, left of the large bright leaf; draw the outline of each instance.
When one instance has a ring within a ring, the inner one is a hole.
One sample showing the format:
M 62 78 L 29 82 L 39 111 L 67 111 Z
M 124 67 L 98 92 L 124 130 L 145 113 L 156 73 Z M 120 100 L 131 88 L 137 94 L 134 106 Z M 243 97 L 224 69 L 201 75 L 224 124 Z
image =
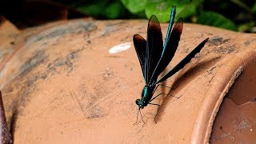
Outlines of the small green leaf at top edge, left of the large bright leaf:
M 121 0 L 122 4 L 128 9 L 131 13 L 136 14 L 145 10 L 146 0 Z

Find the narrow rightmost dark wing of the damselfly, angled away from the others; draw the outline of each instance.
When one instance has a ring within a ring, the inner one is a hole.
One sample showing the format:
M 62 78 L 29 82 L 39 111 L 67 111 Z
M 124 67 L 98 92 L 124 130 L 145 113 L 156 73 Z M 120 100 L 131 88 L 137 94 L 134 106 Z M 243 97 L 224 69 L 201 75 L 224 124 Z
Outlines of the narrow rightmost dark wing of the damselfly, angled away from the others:
M 206 42 L 209 38 L 206 38 L 204 41 L 202 41 L 194 50 L 190 52 L 190 54 L 187 54 L 185 58 L 182 59 L 181 62 L 179 62 L 174 68 L 170 71 L 168 71 L 162 78 L 158 80 L 158 82 L 155 82 L 154 85 L 158 84 L 159 82 L 165 81 L 167 78 L 170 78 L 172 75 L 178 72 L 178 70 L 181 70 L 188 62 L 191 61 L 192 58 L 194 58 L 195 54 L 198 54 L 200 50 L 202 50 L 202 47 L 205 46 Z

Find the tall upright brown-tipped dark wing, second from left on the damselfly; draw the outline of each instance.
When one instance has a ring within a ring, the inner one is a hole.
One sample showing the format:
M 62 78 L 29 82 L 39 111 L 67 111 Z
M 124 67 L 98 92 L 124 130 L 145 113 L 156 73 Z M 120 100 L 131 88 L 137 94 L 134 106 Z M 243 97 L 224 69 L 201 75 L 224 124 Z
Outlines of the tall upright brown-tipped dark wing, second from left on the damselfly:
M 148 84 L 154 69 L 162 54 L 162 31 L 158 18 L 152 15 L 147 27 L 146 38 L 146 84 Z

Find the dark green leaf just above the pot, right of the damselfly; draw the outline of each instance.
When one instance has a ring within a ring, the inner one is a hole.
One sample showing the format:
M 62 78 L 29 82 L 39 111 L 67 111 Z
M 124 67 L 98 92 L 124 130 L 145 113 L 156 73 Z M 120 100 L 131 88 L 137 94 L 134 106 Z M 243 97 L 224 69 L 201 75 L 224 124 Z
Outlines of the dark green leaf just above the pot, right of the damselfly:
M 202 12 L 198 16 L 198 23 L 209 26 L 217 26 L 228 30 L 237 30 L 234 22 L 225 18 L 222 14 L 218 14 L 212 11 Z

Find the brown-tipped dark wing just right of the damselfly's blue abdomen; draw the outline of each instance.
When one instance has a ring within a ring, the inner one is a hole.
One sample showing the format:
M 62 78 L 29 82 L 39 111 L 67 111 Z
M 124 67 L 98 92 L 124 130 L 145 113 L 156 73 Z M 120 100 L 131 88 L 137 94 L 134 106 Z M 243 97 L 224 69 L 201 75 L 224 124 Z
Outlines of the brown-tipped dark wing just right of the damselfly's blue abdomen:
M 183 19 L 179 18 L 178 22 L 174 24 L 174 29 L 171 31 L 171 33 L 169 31 L 167 32 L 166 42 L 162 51 L 162 57 L 158 62 L 158 66 L 154 70 L 154 74 L 152 75 L 150 83 L 156 82 L 158 75 L 161 74 L 162 71 L 166 69 L 166 66 L 168 66 L 172 58 L 174 58 L 174 54 L 178 48 L 178 42 L 181 38 L 182 28 L 183 28 Z M 169 33 L 170 33 L 170 36 L 168 36 Z

